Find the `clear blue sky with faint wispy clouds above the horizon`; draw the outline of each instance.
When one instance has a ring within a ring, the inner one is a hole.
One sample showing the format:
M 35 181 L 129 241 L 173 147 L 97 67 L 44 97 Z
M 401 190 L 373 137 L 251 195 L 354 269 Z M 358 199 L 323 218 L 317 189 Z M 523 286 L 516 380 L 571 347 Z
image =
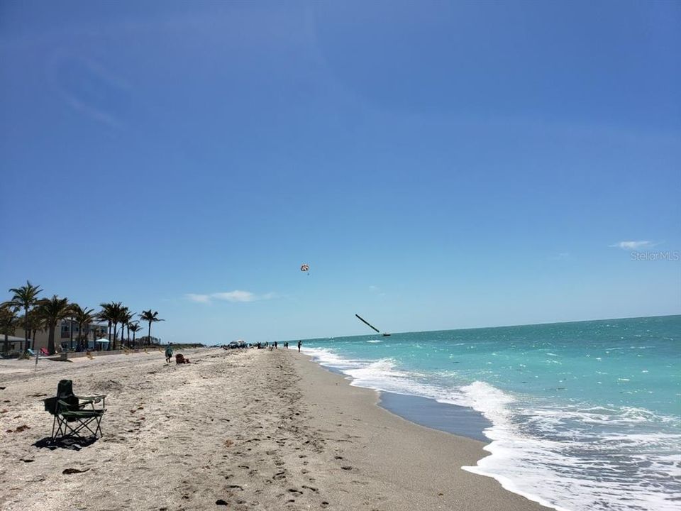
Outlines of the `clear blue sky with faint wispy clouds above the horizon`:
M 680 27 L 674 1 L 1 1 L 0 300 L 30 280 L 209 344 L 681 314 Z

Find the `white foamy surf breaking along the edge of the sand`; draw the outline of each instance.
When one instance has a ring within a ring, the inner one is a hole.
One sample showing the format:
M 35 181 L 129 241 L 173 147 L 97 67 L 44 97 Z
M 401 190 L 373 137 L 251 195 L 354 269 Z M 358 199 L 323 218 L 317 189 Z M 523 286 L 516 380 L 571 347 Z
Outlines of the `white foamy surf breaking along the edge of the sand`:
M 681 485 L 673 481 L 681 478 L 681 434 L 658 431 L 674 417 L 614 405 L 559 407 L 482 381 L 460 388 L 432 383 L 428 375 L 400 370 L 391 358 L 348 360 L 331 350 L 304 351 L 348 375 L 351 385 L 481 412 L 492 422 L 485 431 L 492 441 L 485 446 L 490 456 L 463 468 L 497 479 L 506 490 L 560 511 L 678 509 Z M 452 370 L 436 376 L 456 374 Z M 650 431 L 641 429 L 645 427 Z

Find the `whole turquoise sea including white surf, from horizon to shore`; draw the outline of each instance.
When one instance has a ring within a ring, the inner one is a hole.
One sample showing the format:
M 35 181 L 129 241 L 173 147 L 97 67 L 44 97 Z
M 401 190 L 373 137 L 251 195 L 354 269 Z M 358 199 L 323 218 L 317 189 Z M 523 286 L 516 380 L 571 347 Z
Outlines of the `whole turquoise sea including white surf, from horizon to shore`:
M 472 407 L 466 470 L 560 510 L 681 509 L 681 316 L 309 339 L 352 384 Z M 455 461 L 453 461 L 455 462 Z

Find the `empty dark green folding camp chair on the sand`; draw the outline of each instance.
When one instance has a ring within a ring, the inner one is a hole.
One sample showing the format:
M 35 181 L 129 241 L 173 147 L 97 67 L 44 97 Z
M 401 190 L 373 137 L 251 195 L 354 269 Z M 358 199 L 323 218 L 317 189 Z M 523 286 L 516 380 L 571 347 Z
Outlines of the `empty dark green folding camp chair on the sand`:
M 87 432 L 91 436 L 101 436 L 101 418 L 106 408 L 106 395 L 77 396 L 73 393 L 71 380 L 60 380 L 57 395 L 43 400 L 45 412 L 54 416 L 52 419 L 52 444 L 59 438 L 84 439 Z M 97 406 L 95 406 L 97 405 Z

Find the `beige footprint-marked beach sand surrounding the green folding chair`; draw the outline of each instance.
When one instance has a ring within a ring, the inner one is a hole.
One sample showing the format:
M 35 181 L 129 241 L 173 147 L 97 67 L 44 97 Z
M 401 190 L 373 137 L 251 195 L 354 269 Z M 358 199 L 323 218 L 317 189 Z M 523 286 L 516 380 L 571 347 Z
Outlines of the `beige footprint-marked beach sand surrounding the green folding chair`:
M 460 469 L 482 443 L 407 422 L 295 350 L 182 353 L 193 363 L 0 361 L 0 509 L 546 509 Z M 62 378 L 107 395 L 104 436 L 80 449 L 45 445 L 41 399 Z

